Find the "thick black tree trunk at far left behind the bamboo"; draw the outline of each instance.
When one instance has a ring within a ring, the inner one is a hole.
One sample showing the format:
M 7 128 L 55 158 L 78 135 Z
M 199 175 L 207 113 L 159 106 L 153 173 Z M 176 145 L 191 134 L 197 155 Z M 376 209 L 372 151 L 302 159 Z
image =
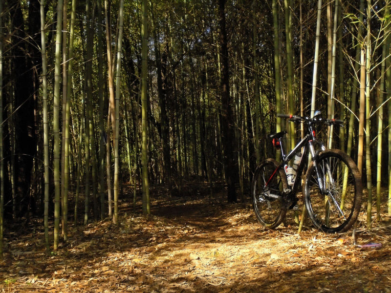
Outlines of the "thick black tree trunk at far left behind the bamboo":
M 35 102 L 39 93 L 39 74 L 41 55 L 35 39 L 40 39 L 40 3 L 32 0 L 29 3 L 28 33 L 31 39 L 25 38 L 22 9 L 18 0 L 11 1 L 10 14 L 15 34 L 12 36 L 13 68 L 15 80 L 15 133 L 16 133 L 16 190 L 20 209 L 25 213 L 28 208 L 35 211 L 35 199 L 30 197 L 31 171 L 33 156 L 36 152 Z M 24 41 L 27 39 L 28 41 Z M 39 42 L 37 42 L 39 43 Z M 29 207 L 30 206 L 30 207 Z

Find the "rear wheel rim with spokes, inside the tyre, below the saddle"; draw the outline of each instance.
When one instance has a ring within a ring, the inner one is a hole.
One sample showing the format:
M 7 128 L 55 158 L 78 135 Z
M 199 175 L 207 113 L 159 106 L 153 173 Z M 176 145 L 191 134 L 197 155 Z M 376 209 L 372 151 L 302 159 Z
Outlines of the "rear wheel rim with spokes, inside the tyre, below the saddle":
M 267 162 L 261 166 L 254 181 L 253 202 L 254 209 L 264 224 L 274 224 L 281 214 L 282 179 L 279 172 L 270 179 L 275 172 L 274 164 Z

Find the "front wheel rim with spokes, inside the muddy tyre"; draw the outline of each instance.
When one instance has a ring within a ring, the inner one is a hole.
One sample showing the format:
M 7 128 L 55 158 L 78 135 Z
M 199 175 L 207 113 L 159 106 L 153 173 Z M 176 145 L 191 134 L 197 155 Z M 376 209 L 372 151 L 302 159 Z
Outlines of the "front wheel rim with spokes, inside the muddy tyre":
M 330 172 L 327 171 L 327 166 Z M 318 169 L 324 174 L 322 183 L 325 186 L 325 193 L 321 192 L 315 167 L 312 167 L 306 190 L 309 193 L 310 217 L 322 230 L 342 230 L 351 218 L 355 204 L 356 184 L 352 170 L 337 155 L 321 159 Z

